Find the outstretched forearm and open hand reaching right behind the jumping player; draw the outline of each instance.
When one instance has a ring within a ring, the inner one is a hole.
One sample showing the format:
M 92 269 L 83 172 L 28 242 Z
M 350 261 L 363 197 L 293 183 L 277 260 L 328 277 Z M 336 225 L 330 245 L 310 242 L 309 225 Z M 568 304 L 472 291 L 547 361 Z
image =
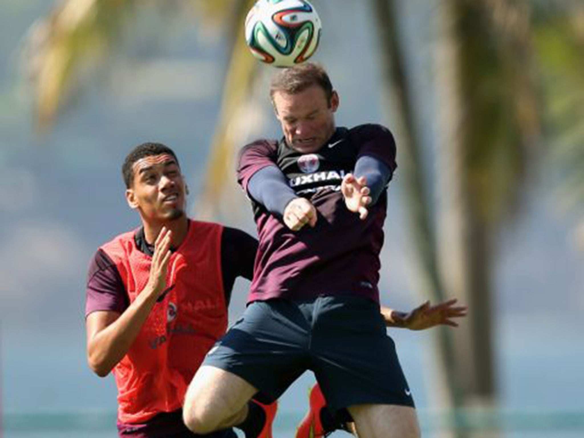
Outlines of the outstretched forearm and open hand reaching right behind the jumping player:
M 456 306 L 457 301 L 453 298 L 436 305 L 430 305 L 430 301 L 426 301 L 410 312 L 398 312 L 388 307 L 381 307 L 381 314 L 388 327 L 410 330 L 425 330 L 436 325 L 458 327 L 458 323 L 453 319 L 465 317 L 468 308 L 465 305 Z

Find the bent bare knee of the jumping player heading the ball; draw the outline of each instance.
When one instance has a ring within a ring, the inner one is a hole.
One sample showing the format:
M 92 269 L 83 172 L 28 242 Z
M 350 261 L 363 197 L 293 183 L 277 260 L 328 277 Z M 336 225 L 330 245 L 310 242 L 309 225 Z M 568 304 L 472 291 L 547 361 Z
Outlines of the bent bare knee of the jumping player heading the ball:
M 248 415 L 248 401 L 256 392 L 235 374 L 202 366 L 186 392 L 183 420 L 197 434 L 236 426 Z

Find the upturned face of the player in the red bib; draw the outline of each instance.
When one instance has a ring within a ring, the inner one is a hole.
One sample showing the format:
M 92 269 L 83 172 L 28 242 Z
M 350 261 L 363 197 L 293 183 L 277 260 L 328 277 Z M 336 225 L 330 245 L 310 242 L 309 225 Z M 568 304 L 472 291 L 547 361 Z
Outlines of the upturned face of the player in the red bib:
M 126 190 L 126 198 L 142 219 L 162 222 L 185 215 L 185 180 L 172 155 L 141 158 L 134 163 L 133 171 L 133 185 Z

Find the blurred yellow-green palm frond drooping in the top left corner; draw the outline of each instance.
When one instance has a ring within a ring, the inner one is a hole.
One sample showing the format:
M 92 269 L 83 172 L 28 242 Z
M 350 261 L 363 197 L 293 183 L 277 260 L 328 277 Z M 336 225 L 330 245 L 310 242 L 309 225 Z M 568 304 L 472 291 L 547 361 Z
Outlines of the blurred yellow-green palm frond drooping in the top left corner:
M 41 128 L 54 122 L 79 79 L 103 66 L 137 3 L 68 0 L 31 27 L 23 55 Z

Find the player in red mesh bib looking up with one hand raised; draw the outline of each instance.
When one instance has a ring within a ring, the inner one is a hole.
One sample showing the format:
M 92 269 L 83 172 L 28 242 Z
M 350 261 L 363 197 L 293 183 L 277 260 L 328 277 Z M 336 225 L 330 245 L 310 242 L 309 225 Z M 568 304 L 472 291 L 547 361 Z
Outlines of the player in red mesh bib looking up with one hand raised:
M 89 267 L 89 366 L 100 377 L 113 371 L 120 437 L 196 437 L 182 421 L 185 392 L 227 329 L 235 278 L 252 278 L 257 241 L 187 218 L 185 180 L 165 145 L 138 146 L 122 172 L 142 227 L 102 245 Z M 235 427 L 246 438 L 269 438 L 275 414 L 275 403 L 251 401 Z M 232 429 L 207 436 L 236 437 Z

